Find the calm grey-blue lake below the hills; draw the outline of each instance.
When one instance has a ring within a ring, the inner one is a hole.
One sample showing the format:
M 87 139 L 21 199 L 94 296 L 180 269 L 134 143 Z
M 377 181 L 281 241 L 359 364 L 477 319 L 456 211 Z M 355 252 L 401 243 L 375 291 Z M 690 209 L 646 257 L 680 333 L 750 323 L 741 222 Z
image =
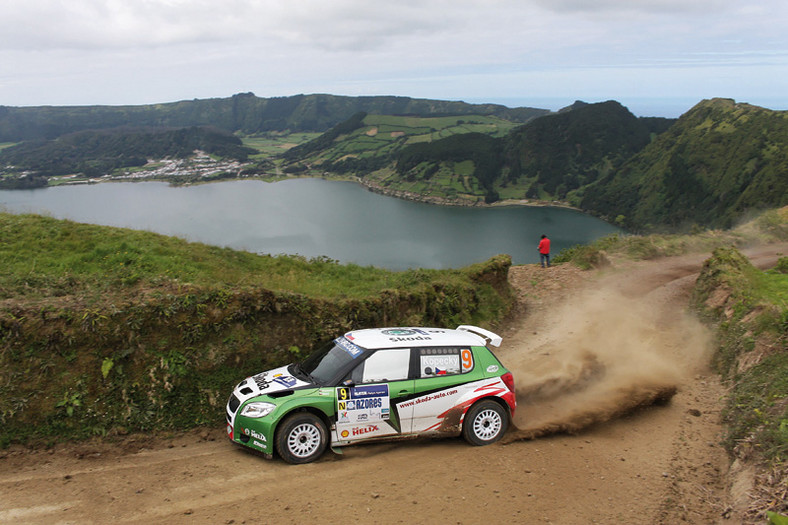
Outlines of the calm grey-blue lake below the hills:
M 351 182 L 294 179 L 188 187 L 103 183 L 0 191 L 0 211 L 122 226 L 255 253 L 327 256 L 392 270 L 460 268 L 506 253 L 539 261 L 620 231 L 574 210 L 448 207 L 372 193 Z

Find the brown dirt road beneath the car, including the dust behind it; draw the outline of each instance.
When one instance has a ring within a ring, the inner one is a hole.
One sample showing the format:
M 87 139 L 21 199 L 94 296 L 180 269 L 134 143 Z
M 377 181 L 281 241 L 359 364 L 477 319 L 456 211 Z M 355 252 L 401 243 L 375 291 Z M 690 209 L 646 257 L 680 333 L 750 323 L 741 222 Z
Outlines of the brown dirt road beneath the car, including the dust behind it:
M 290 466 L 231 446 L 217 422 L 10 450 L 0 523 L 738 523 L 709 334 L 684 313 L 702 260 L 512 268 L 519 313 L 497 352 L 518 388 L 506 443 L 367 445 Z

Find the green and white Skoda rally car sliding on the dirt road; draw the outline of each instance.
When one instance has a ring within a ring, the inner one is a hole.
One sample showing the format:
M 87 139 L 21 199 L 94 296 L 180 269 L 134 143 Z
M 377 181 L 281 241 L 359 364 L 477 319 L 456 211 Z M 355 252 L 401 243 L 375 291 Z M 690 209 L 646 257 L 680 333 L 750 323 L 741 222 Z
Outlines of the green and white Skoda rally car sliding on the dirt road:
M 374 328 L 348 332 L 303 363 L 244 379 L 227 403 L 234 443 L 288 463 L 327 446 L 462 434 L 498 441 L 514 415 L 514 378 L 483 328 Z

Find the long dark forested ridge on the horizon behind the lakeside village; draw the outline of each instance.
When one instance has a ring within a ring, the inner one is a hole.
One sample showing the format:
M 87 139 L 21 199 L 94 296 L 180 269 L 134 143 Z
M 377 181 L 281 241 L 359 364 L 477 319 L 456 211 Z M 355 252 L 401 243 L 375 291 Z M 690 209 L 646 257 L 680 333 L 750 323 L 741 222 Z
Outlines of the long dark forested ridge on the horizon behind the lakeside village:
M 253 93 L 141 106 L 0 106 L 0 143 L 54 139 L 75 131 L 122 126 L 213 126 L 244 134 L 323 132 L 361 111 L 380 115 L 495 115 L 521 123 L 550 113 L 537 108 L 410 97 L 315 94 L 261 98 Z

